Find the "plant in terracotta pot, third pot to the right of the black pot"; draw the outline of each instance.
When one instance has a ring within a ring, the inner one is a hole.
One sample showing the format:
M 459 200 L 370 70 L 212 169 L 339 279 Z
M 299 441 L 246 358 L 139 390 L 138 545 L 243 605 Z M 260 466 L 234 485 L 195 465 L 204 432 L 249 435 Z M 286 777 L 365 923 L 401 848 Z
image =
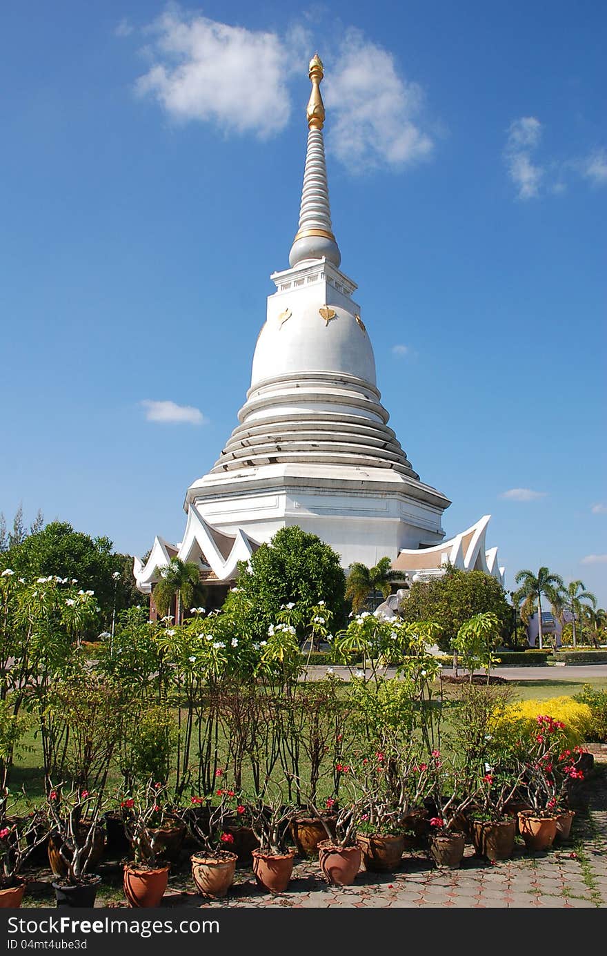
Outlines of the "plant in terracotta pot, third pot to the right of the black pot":
M 288 847 L 293 804 L 283 801 L 278 789 L 267 783 L 262 793 L 247 801 L 251 828 L 259 840 L 252 851 L 253 874 L 257 884 L 271 893 L 284 893 L 291 880 L 295 851 Z

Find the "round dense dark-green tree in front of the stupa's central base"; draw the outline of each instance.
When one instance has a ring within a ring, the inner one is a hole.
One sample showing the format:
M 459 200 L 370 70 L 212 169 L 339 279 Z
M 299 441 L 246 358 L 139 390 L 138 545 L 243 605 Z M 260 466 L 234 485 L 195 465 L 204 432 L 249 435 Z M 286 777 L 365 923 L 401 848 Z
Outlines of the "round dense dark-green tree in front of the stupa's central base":
M 320 601 L 332 612 L 336 628 L 345 624 L 346 584 L 339 555 L 315 534 L 297 525 L 281 528 L 249 562 L 240 561 L 238 569 L 238 584 L 224 610 L 253 640 L 265 640 L 288 605 L 299 641 L 306 636 L 311 609 Z

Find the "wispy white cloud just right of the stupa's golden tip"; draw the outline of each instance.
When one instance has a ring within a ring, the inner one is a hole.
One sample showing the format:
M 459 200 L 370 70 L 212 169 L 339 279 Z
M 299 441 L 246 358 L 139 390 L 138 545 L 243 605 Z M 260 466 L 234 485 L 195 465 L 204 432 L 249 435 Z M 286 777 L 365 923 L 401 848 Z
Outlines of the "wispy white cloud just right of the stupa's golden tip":
M 350 28 L 325 80 L 327 146 L 351 172 L 401 169 L 426 159 L 423 90 L 400 75 L 394 56 Z

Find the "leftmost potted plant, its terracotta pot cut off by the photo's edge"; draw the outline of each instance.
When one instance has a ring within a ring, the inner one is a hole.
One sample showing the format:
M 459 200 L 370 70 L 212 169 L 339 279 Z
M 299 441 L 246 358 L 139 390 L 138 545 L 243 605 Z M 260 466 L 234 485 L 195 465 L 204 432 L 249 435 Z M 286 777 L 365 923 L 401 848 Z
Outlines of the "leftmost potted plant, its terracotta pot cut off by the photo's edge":
M 27 815 L 11 815 L 14 801 L 9 793 L 3 799 L 5 814 L 0 822 L 0 907 L 16 909 L 21 905 L 26 882 L 21 870 L 37 846 L 48 836 L 48 818 L 44 810 L 33 809 Z

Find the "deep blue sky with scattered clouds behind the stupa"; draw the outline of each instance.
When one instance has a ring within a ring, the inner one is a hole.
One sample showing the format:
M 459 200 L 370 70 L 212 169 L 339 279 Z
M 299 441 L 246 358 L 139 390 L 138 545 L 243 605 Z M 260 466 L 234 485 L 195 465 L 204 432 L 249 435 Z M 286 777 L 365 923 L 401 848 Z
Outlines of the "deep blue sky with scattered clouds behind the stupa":
M 606 25 L 586 0 L 5 5 L 0 510 L 181 538 L 288 266 L 317 49 L 342 270 L 445 531 L 490 513 L 507 587 L 547 564 L 607 604 Z

